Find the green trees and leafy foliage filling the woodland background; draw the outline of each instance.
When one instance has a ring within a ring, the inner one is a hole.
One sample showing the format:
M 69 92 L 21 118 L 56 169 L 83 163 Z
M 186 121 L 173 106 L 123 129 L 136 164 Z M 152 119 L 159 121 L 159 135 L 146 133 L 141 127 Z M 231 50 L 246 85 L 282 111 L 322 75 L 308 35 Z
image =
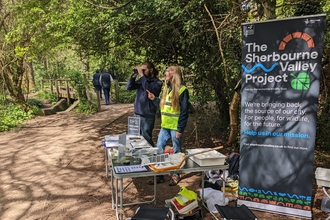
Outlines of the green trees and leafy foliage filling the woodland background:
M 79 112 L 96 111 L 88 83 L 96 69 L 107 67 L 119 82 L 134 66 L 154 62 L 160 76 L 178 63 L 193 87 L 191 101 L 212 105 L 210 130 L 228 136 L 229 107 L 241 79 L 241 24 L 325 13 L 330 0 L 5 0 L 0 6 L 0 99 L 10 96 L 25 112 L 24 94 L 38 91 L 41 79 L 71 79 Z M 267 6 L 267 7 L 265 7 Z M 330 31 L 325 34 L 317 144 L 329 148 Z M 91 85 L 89 85 L 91 86 Z M 132 102 L 135 92 L 121 92 Z M 53 101 L 52 97 L 48 97 Z M 30 101 L 31 102 L 31 101 Z M 9 108 L 9 105 L 4 105 Z M 33 105 L 37 106 L 37 105 Z M 33 107 L 35 108 L 35 107 Z M 199 111 L 199 110 L 198 110 Z M 239 115 L 239 112 L 237 113 Z M 239 117 L 238 117 L 239 120 Z M 239 123 L 237 123 L 239 124 Z

